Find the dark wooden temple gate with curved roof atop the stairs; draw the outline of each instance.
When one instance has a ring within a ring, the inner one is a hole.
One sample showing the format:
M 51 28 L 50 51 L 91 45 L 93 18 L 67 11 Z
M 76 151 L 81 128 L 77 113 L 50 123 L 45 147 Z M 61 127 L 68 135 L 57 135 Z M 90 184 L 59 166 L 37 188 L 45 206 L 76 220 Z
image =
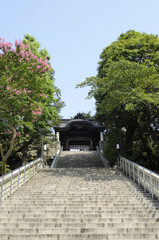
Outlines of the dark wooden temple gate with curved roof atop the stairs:
M 105 126 L 77 114 L 73 119 L 62 119 L 54 129 L 64 151 L 89 151 L 96 150 L 96 146 L 103 140 Z

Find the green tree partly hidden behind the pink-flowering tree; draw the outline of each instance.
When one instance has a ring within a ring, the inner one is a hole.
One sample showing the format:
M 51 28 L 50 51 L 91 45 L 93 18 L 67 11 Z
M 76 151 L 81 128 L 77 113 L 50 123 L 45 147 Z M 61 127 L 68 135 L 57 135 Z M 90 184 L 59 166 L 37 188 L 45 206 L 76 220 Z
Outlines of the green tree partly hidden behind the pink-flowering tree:
M 29 34 L 24 35 L 23 44 L 29 45 L 32 53 L 36 55 L 39 59 L 45 60 L 49 62 L 51 59 L 48 51 L 46 49 L 40 49 L 40 43 Z M 50 64 L 50 63 L 49 63 Z M 22 152 L 22 161 L 25 163 L 27 159 L 27 151 L 29 145 L 37 146 L 41 144 L 41 141 L 45 141 L 46 135 L 51 135 L 51 128 L 53 125 L 56 125 L 59 120 L 59 112 L 61 108 L 64 106 L 64 103 L 61 101 L 61 92 L 55 86 L 54 79 L 54 70 L 51 68 L 49 71 L 43 74 L 45 82 L 43 84 L 43 93 L 41 97 L 43 97 L 43 112 L 38 119 L 38 121 L 34 122 L 34 131 L 30 132 L 29 141 L 25 142 L 20 148 L 16 150 L 17 152 Z M 28 129 L 26 128 L 26 131 Z M 39 145 L 41 147 L 41 145 Z

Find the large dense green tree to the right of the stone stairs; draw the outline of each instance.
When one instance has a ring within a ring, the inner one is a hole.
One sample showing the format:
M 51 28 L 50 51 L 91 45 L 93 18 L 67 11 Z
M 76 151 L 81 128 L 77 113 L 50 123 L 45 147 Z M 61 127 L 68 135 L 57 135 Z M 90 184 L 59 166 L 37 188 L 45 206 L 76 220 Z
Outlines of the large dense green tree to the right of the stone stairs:
M 159 110 L 159 38 L 133 30 L 121 34 L 100 55 L 98 74 L 80 87 L 91 87 L 96 118 L 107 129 L 120 128 L 123 153 L 137 158 L 142 152 L 156 166 Z M 118 131 L 117 131 L 118 132 Z

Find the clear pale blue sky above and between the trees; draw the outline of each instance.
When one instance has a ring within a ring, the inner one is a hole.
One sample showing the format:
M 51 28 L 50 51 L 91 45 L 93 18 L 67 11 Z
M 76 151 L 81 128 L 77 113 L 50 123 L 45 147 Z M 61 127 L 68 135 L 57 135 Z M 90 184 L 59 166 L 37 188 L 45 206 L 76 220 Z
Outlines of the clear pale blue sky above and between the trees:
M 97 73 L 99 55 L 130 29 L 159 35 L 159 0 L 0 0 L 0 36 L 34 36 L 51 55 L 63 118 L 95 113 L 88 88 L 77 83 Z

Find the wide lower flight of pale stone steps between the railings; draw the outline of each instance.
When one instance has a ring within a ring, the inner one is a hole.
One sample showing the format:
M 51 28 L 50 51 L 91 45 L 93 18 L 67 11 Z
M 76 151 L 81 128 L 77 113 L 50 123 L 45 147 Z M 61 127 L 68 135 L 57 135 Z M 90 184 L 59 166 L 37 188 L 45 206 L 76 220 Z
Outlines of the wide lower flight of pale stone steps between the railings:
M 159 239 L 146 193 L 113 169 L 80 168 L 77 155 L 71 168 L 62 155 L 58 168 L 43 169 L 3 202 L 0 240 Z

